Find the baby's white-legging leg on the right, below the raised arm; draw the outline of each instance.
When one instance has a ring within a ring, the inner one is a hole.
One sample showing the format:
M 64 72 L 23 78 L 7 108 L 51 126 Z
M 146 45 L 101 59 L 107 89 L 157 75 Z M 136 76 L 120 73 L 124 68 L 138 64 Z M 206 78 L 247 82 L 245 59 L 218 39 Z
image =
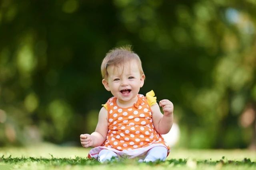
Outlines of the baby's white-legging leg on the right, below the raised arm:
M 165 147 L 154 147 L 148 150 L 144 162 L 154 162 L 156 160 L 164 161 L 167 156 L 167 149 Z

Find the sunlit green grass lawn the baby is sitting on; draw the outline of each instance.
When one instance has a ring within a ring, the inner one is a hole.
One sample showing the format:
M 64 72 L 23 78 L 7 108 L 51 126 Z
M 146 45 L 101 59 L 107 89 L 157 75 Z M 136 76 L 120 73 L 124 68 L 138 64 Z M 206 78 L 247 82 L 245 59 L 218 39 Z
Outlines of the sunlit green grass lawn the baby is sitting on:
M 0 170 L 166 170 L 256 169 L 256 152 L 250 150 L 172 149 L 165 162 L 123 160 L 100 164 L 86 158 L 89 149 L 40 144 L 0 149 Z

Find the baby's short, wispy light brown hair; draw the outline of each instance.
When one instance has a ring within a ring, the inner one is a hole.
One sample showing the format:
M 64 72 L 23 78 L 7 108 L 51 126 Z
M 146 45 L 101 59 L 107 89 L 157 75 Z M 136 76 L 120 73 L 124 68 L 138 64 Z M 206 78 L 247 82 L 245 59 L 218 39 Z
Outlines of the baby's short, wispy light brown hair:
M 108 66 L 114 65 L 122 65 L 127 61 L 135 60 L 140 69 L 140 74 L 144 74 L 142 70 L 142 64 L 140 61 L 140 57 L 132 51 L 131 45 L 125 45 L 122 47 L 114 48 L 106 54 L 106 57 L 103 59 L 101 63 L 101 74 L 102 78 L 108 78 Z

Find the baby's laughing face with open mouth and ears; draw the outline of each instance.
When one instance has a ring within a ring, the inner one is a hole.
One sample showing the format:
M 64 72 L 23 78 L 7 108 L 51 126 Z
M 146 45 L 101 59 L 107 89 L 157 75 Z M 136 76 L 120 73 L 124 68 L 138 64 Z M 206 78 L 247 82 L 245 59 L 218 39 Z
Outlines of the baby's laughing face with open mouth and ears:
M 109 66 L 107 80 L 102 80 L 106 90 L 118 98 L 120 103 L 128 104 L 137 101 L 137 94 L 144 84 L 144 74 L 135 60 L 119 66 Z

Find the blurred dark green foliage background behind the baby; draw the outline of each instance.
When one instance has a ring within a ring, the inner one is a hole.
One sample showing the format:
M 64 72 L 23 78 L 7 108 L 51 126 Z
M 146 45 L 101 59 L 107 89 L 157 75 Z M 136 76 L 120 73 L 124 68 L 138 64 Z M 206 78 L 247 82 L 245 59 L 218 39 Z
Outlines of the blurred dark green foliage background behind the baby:
M 174 103 L 176 147 L 256 148 L 255 0 L 1 0 L 0 146 L 80 145 L 111 97 L 108 50 L 132 45 Z

